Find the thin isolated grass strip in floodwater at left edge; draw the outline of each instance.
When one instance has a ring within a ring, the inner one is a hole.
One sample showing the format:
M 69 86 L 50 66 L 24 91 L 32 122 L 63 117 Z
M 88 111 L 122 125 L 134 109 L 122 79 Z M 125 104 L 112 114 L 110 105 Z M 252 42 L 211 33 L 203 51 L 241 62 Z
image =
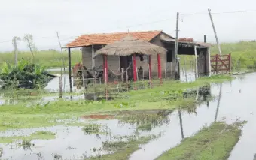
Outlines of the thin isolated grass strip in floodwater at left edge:
M 50 131 L 36 131 L 29 136 L 13 136 L 13 137 L 0 137 L 0 143 L 12 143 L 17 140 L 30 141 L 30 140 L 50 140 L 54 139 L 56 134 Z

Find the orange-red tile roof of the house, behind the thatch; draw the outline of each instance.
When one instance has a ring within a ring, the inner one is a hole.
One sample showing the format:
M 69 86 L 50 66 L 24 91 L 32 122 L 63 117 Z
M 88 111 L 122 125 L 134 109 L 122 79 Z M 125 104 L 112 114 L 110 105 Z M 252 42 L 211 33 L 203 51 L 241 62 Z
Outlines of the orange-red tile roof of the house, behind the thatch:
M 151 41 L 162 31 L 145 31 L 145 32 L 129 32 L 133 38 L 142 39 L 144 41 Z M 70 42 L 66 47 L 84 47 L 96 44 L 111 44 L 114 41 L 120 41 L 128 33 L 117 32 L 117 33 L 102 33 L 102 34 L 91 34 L 81 35 L 76 38 L 75 41 Z

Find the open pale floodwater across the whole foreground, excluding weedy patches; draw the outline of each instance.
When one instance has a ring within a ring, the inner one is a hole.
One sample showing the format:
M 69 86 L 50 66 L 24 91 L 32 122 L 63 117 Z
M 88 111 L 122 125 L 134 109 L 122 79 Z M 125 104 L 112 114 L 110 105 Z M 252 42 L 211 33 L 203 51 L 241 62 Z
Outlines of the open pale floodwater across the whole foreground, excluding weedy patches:
M 154 125 L 154 127 L 148 131 L 140 131 L 140 134 L 161 133 L 161 136 L 142 145 L 141 149 L 133 152 L 130 156 L 130 160 L 153 160 L 163 152 L 178 145 L 182 138 L 192 136 L 197 133 L 200 128 L 209 126 L 212 122 L 215 122 L 215 120 L 225 120 L 227 123 L 232 123 L 236 122 L 237 119 L 246 120 L 248 123 L 242 128 L 242 136 L 230 153 L 229 160 L 252 160 L 256 153 L 256 149 L 251 147 L 256 143 L 256 139 L 254 138 L 256 134 L 256 96 L 254 95 L 254 89 L 256 89 L 256 74 L 244 74 L 236 77 L 236 80 L 231 82 L 211 84 L 210 87 L 205 87 L 205 89 L 208 89 L 206 92 L 200 92 L 200 89 L 198 89 L 197 93 L 201 95 L 195 97 L 200 101 L 200 104 L 198 104 L 194 112 L 188 113 L 181 111 L 179 114 L 178 111 L 174 111 L 164 116 L 164 120 L 155 119 L 154 121 L 147 121 L 157 125 Z M 218 97 L 212 101 L 207 101 L 206 96 L 209 94 Z M 220 98 L 219 105 L 218 98 Z M 140 120 L 137 119 L 137 121 Z M 16 148 L 14 144 L 0 144 L 0 147 L 4 150 L 2 158 L 17 160 L 37 159 L 38 155 L 36 154 L 39 152 L 41 152 L 44 159 L 52 159 L 54 154 L 62 155 L 63 159 L 82 158 L 85 152 L 87 152 L 88 156 L 95 155 L 92 149 L 101 147 L 103 141 L 110 140 L 111 137 L 118 135 L 130 136 L 136 134 L 136 126 L 141 125 L 143 122 L 131 123 L 130 121 L 113 119 L 97 121 L 97 123 L 107 125 L 111 136 L 110 134 L 104 134 L 100 135 L 101 138 L 99 138 L 96 135 L 84 134 L 81 127 L 65 126 L 3 132 L 0 136 L 29 135 L 32 134 L 33 131 L 46 130 L 56 132 L 56 139 L 32 140 L 35 146 L 32 146 L 30 150 Z M 69 147 L 75 147 L 75 149 L 67 150 Z M 101 154 L 106 154 L 106 152 L 101 152 Z

